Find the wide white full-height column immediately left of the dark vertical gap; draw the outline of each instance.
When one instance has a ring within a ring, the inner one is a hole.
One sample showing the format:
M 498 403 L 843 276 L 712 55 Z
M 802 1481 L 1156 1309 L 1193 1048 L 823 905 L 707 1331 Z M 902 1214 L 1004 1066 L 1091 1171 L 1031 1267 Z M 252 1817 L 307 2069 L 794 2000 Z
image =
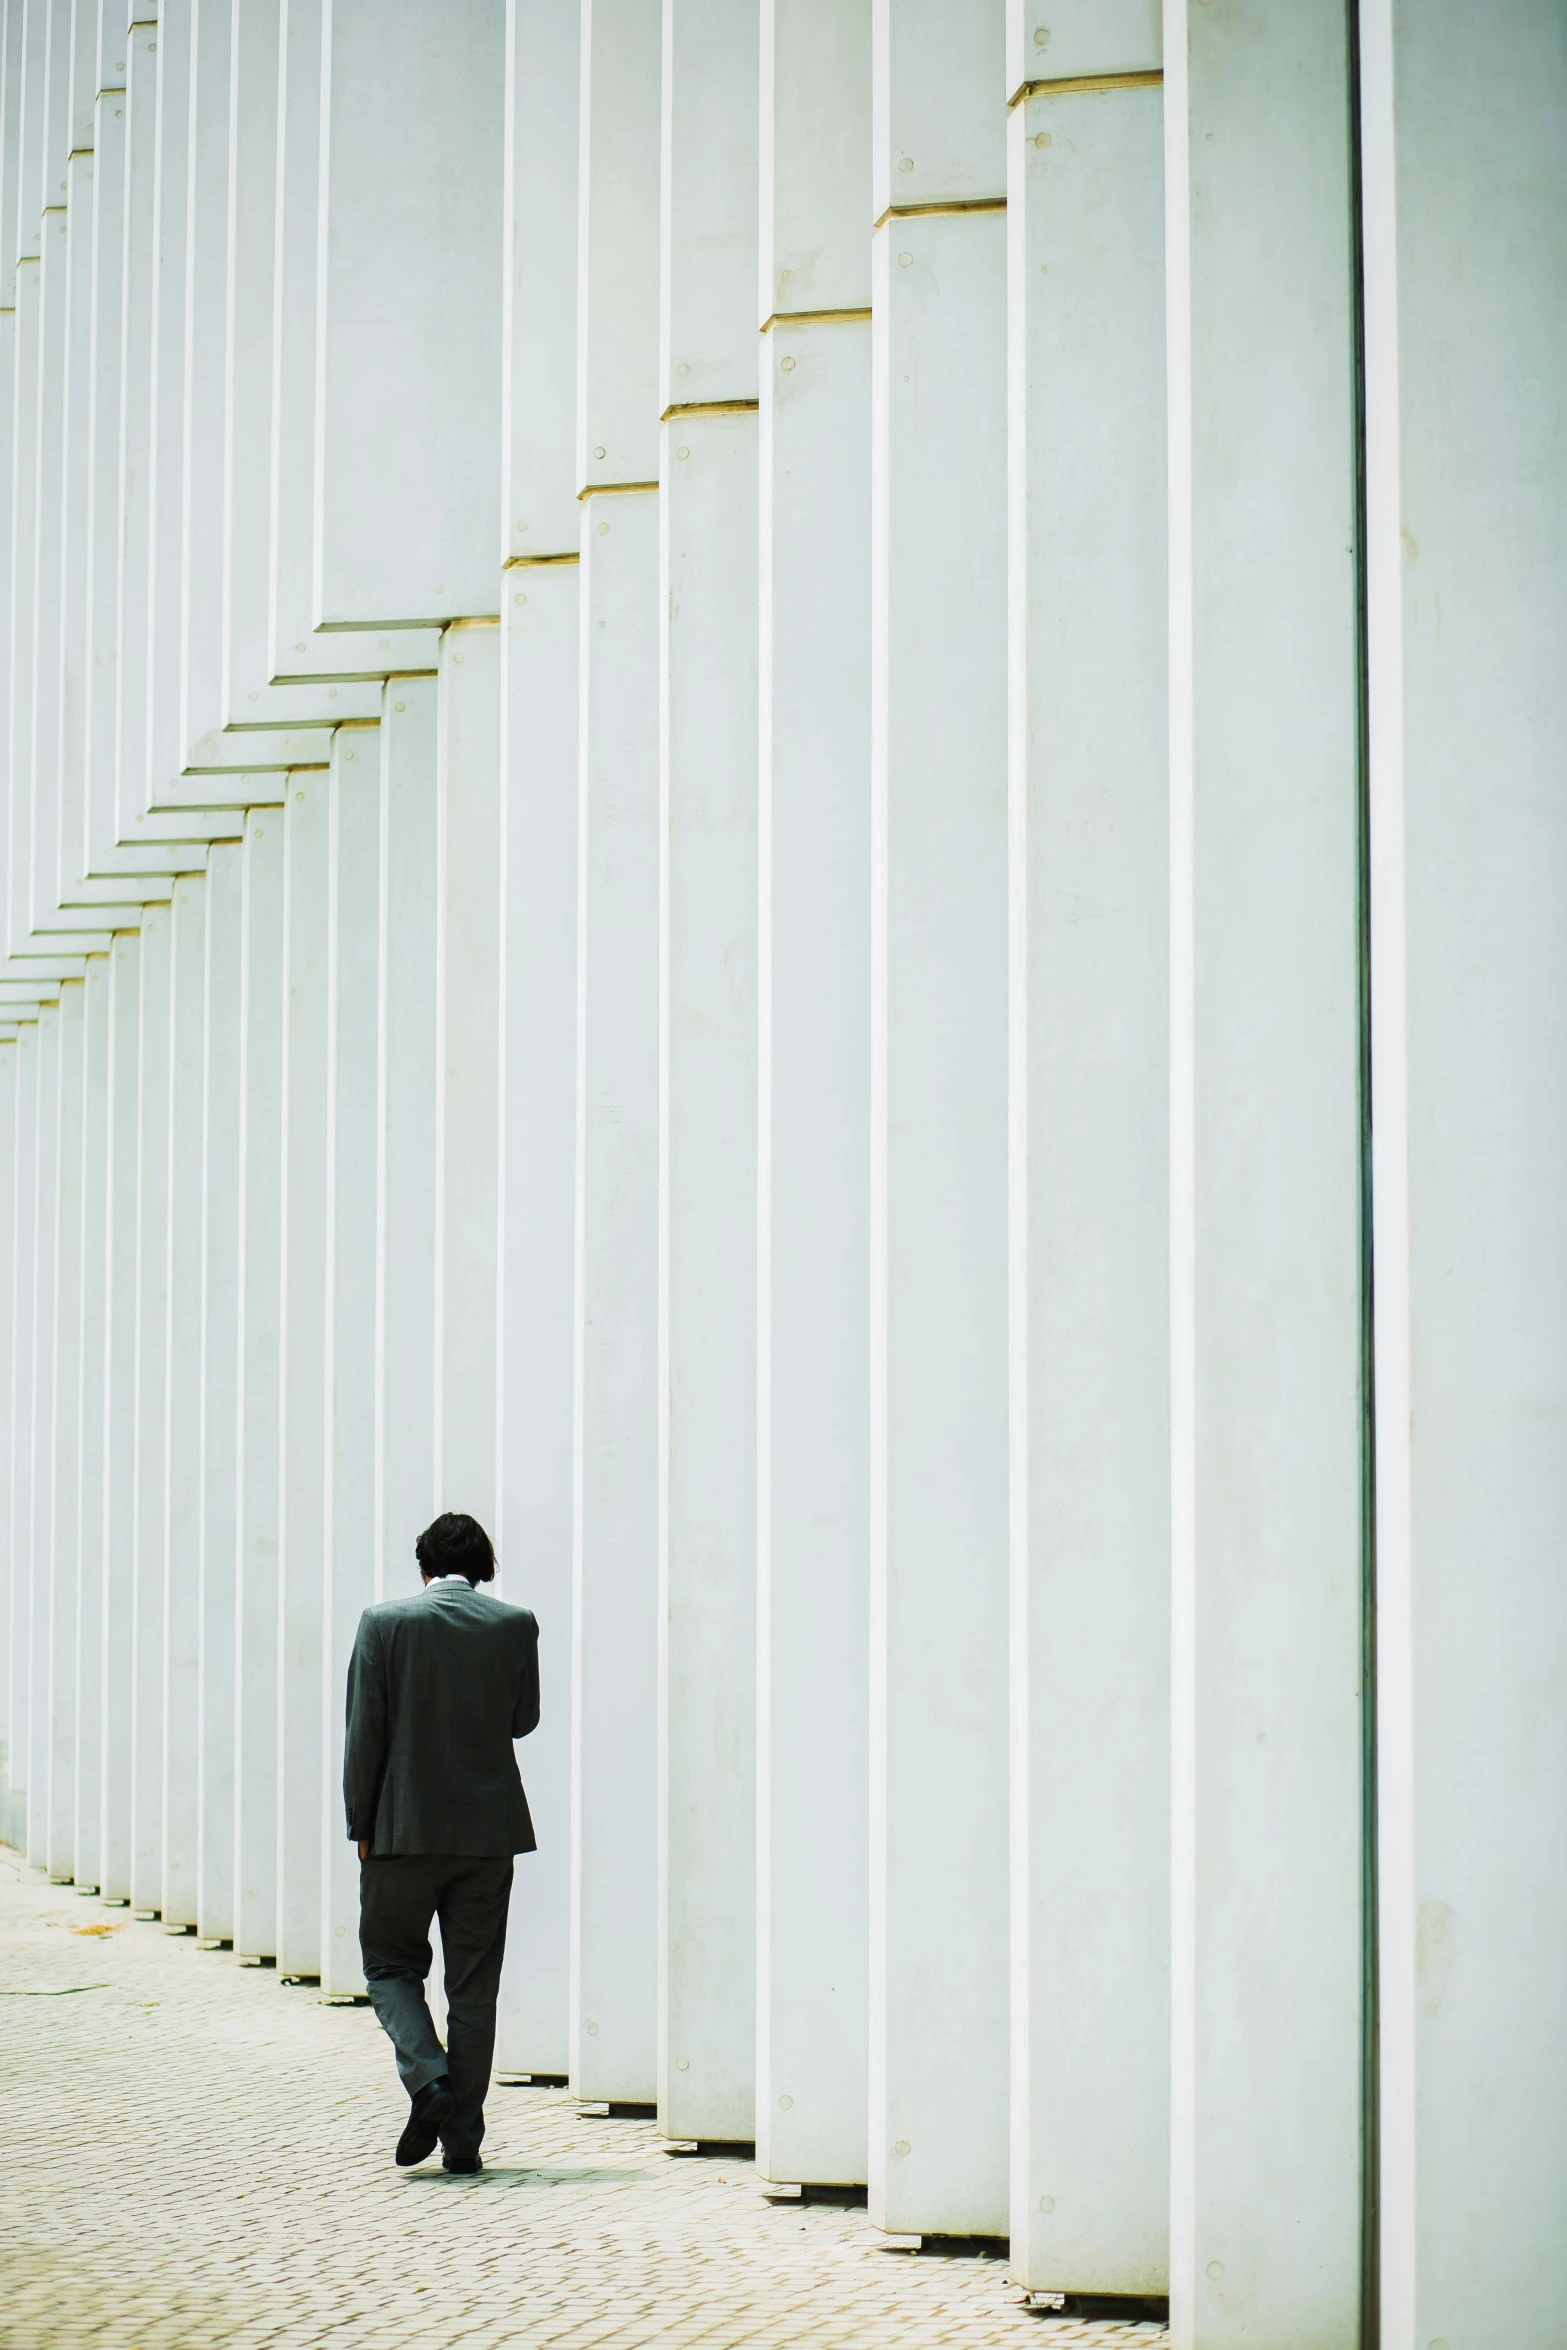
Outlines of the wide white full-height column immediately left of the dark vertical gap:
M 1360 2324 L 1346 16 L 1165 9 L 1179 2345 Z

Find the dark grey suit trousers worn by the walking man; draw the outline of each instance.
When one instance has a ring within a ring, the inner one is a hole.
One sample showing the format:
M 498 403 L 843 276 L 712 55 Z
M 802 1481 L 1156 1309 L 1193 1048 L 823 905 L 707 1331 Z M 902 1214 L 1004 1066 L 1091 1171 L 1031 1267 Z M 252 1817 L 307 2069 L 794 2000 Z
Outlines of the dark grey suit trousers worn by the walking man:
M 477 2155 L 484 2141 L 510 1901 L 510 1854 L 496 1861 L 460 1852 L 390 1852 L 359 1861 L 364 1988 L 397 2052 L 409 2096 L 442 2073 L 451 2077 L 456 2110 L 442 2129 L 449 2155 Z M 442 1920 L 446 1972 L 444 2049 L 425 2005 L 432 1918 Z

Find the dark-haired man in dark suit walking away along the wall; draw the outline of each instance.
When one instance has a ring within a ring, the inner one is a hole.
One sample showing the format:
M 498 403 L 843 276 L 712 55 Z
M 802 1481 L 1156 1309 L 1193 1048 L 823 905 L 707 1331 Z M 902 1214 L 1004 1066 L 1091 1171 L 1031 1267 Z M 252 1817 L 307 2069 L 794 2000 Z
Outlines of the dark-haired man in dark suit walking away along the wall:
M 496 1553 L 446 1511 L 418 1537 L 425 1589 L 359 1617 L 348 1666 L 343 1800 L 359 1847 L 359 1950 L 397 2049 L 406 2169 L 444 2146 L 479 2171 L 512 1854 L 533 1852 L 515 1739 L 538 1725 L 538 1624 L 479 1591 Z M 446 2047 L 430 2009 L 430 1918 L 442 1920 Z

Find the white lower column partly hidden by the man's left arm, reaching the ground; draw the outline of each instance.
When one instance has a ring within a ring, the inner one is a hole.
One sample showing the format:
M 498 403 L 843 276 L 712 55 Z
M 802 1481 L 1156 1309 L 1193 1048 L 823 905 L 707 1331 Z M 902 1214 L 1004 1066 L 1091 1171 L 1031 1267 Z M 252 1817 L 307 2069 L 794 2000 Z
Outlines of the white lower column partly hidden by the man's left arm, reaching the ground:
M 338 728 L 329 778 L 327 1349 L 322 1558 L 322 1990 L 359 1993 L 359 1871 L 343 1835 L 343 1673 L 376 1598 L 376 1041 L 381 743 Z M 392 949 L 397 952 L 397 947 Z

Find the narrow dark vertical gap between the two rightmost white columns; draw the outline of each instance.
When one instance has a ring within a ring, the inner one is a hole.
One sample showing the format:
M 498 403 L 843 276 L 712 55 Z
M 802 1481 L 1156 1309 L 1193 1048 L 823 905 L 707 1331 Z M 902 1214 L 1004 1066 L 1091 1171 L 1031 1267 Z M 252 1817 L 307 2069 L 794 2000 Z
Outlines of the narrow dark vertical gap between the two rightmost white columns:
M 1360 2350 L 1381 2341 L 1381 2108 L 1377 1967 L 1377 1351 L 1372 1250 L 1372 853 L 1370 637 L 1365 571 L 1365 214 L 1360 174 L 1360 0 L 1346 0 L 1351 381 L 1356 430 L 1356 942 L 1360 1048 Z

